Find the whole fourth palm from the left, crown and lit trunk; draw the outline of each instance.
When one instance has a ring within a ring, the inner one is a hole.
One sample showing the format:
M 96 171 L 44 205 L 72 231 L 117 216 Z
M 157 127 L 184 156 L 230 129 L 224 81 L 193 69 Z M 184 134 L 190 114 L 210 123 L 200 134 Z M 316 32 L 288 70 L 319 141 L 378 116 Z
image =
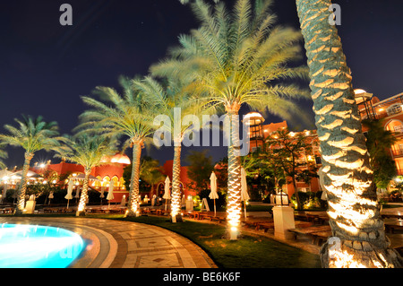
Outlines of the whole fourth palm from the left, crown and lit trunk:
M 201 122 L 201 100 L 186 92 L 187 85 L 179 78 L 168 77 L 166 84 L 157 82 L 150 76 L 142 81 L 133 81 L 146 102 L 159 109 L 161 115 L 167 116 L 167 124 L 161 126 L 167 134 L 173 134 L 174 162 L 172 169 L 171 216 L 175 218 L 181 211 L 180 171 L 181 152 L 184 136 L 193 131 L 193 121 L 184 121 L 186 117 L 197 117 Z M 200 126 L 199 126 L 200 128 Z M 176 221 L 176 220 L 173 220 Z

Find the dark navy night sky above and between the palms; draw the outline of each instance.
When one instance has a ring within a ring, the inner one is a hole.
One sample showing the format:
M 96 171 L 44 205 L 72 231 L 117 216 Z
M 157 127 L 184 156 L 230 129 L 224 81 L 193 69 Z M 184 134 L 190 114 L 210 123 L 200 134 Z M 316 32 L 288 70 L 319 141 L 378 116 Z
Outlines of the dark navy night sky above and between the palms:
M 73 26 L 59 23 L 64 3 L 73 6 Z M 381 100 L 402 92 L 403 2 L 333 3 L 341 7 L 339 36 L 354 88 Z M 277 0 L 273 11 L 279 24 L 299 29 L 295 1 Z M 197 27 L 190 8 L 178 0 L 1 1 L 0 133 L 5 124 L 14 125 L 13 119 L 24 114 L 56 121 L 61 134 L 71 134 L 87 108 L 81 95 L 90 95 L 99 85 L 118 88 L 121 74 L 147 74 L 150 65 L 177 44 L 179 34 Z M 313 113 L 312 102 L 301 102 L 301 108 Z M 266 123 L 279 121 L 266 118 Z M 184 157 L 189 150 L 184 149 Z M 7 151 L 9 168 L 21 166 L 22 149 Z M 161 163 L 173 158 L 169 148 L 143 153 Z M 227 148 L 211 147 L 210 155 L 219 160 Z M 32 163 L 43 160 L 56 161 L 52 153 L 39 152 Z

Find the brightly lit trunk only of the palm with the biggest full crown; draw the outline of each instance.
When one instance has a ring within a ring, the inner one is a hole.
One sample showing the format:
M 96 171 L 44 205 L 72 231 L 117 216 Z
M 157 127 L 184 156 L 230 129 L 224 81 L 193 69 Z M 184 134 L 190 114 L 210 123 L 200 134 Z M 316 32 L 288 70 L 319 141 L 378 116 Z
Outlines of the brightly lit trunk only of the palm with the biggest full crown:
M 230 229 L 237 228 L 241 222 L 241 160 L 237 150 L 239 148 L 239 105 L 234 103 L 227 106 L 227 115 L 230 121 L 230 141 L 228 146 L 228 197 L 227 197 L 227 221 Z

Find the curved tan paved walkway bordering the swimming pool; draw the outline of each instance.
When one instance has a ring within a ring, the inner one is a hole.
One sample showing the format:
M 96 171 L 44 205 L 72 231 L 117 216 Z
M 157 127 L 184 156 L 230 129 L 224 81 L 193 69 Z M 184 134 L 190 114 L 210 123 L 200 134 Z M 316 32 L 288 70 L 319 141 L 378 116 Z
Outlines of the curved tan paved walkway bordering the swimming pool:
M 92 218 L 2 217 L 0 223 L 57 226 L 89 242 L 73 268 L 217 268 L 187 238 L 156 226 Z

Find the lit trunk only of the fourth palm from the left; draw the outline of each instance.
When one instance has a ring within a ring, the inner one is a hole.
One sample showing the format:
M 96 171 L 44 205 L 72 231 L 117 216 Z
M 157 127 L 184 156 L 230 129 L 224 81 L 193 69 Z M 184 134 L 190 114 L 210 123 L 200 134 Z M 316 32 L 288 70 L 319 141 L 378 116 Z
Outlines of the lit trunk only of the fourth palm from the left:
M 171 216 L 176 217 L 181 212 L 181 189 L 180 189 L 180 175 L 181 175 L 181 142 L 175 146 L 174 163 L 172 168 L 172 194 L 171 194 Z M 176 220 L 173 220 L 176 221 Z

